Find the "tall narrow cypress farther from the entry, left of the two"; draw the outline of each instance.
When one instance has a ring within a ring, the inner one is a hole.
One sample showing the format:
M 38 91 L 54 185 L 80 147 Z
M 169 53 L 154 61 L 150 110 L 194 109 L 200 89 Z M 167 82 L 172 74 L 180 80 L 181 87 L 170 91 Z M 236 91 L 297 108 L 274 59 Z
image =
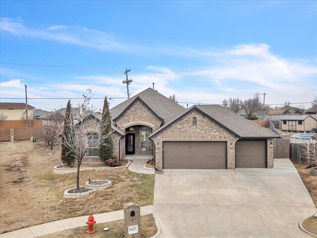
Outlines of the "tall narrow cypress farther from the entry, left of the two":
M 61 161 L 67 166 L 72 166 L 75 162 L 75 153 L 73 150 L 73 115 L 71 113 L 70 100 L 67 102 L 65 118 L 64 118 L 64 130 L 61 142 Z

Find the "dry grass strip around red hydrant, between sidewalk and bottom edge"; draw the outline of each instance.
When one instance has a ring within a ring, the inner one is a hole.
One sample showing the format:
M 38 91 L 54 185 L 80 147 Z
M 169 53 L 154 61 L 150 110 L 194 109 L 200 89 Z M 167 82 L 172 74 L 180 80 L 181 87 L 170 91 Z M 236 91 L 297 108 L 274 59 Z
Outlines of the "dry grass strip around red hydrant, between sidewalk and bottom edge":
M 40 238 L 124 238 L 123 226 L 123 220 L 101 224 L 97 223 L 94 226 L 94 234 L 87 234 L 87 227 L 80 227 L 41 236 Z M 109 228 L 107 232 L 103 230 L 105 227 Z M 157 233 L 157 231 L 158 229 L 152 214 L 141 217 L 142 238 L 152 237 Z

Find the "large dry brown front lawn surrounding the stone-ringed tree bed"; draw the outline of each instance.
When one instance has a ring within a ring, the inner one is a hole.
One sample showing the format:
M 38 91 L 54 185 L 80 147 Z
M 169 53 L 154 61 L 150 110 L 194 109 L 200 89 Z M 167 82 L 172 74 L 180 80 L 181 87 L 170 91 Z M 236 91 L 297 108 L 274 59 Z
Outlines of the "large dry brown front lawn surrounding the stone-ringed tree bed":
M 88 179 L 108 179 L 112 186 L 79 199 L 63 197 L 76 186 L 76 173 L 56 175 L 59 156 L 29 141 L 0 143 L 0 234 L 55 220 L 121 210 L 127 202 L 153 204 L 154 175 L 127 168 L 82 171 L 80 184 Z

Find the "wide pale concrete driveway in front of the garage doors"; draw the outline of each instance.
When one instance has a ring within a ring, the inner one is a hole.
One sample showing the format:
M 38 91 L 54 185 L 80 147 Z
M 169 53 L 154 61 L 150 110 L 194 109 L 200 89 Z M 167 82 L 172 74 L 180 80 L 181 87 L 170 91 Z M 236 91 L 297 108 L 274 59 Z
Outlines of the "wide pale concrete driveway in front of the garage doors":
M 164 238 L 309 238 L 298 222 L 316 207 L 288 159 L 274 169 L 163 170 L 154 215 Z

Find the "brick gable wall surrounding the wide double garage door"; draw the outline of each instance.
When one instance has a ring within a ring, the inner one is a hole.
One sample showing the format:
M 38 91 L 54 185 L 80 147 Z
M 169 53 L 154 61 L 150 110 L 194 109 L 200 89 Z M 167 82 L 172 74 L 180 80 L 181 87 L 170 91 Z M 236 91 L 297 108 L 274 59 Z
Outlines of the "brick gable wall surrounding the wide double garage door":
M 197 125 L 193 125 L 193 117 L 197 117 Z M 156 145 L 155 159 L 159 170 L 163 169 L 164 141 L 226 141 L 227 169 L 235 169 L 235 146 L 230 148 L 230 143 L 235 145 L 238 138 L 196 110 L 167 126 L 151 139 Z M 158 144 L 159 147 L 157 147 Z

